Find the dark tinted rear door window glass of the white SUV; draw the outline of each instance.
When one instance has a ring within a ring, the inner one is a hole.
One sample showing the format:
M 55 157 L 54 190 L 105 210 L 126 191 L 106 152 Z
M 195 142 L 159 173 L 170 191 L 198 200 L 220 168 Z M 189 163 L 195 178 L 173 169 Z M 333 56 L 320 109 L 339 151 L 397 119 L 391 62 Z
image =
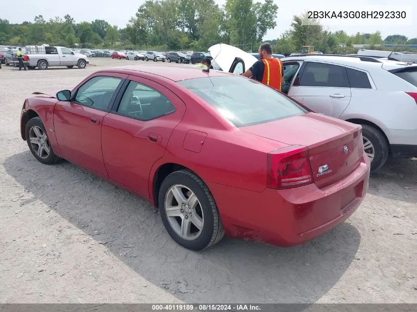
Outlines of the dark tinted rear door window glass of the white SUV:
M 349 88 L 346 68 L 339 65 L 307 62 L 300 78 L 301 87 Z

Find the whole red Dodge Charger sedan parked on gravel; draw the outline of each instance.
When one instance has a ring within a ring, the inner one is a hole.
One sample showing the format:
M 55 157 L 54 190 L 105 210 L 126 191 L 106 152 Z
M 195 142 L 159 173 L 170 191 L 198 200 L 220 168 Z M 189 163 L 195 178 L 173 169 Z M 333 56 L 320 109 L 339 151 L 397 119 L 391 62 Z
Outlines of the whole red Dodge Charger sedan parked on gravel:
M 160 210 L 201 250 L 234 238 L 292 246 L 339 225 L 368 190 L 361 126 L 217 70 L 125 66 L 25 100 L 21 135 Z

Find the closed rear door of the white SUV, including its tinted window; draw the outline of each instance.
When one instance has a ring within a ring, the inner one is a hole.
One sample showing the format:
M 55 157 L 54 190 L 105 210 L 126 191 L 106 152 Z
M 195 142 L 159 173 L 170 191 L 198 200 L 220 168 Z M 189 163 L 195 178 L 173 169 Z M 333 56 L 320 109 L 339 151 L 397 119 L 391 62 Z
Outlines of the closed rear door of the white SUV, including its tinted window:
M 346 68 L 323 62 L 304 61 L 300 79 L 288 95 L 317 113 L 339 118 L 351 99 Z

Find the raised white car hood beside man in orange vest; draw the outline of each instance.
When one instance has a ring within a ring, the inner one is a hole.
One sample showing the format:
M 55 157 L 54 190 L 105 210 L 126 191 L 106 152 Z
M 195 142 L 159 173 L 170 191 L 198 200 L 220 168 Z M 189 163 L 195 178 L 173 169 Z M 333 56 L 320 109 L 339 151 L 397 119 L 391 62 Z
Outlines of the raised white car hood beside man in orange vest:
M 209 49 L 213 60 L 222 68 L 223 71 L 230 71 L 230 68 L 236 58 L 243 60 L 245 70 L 249 69 L 258 60 L 253 55 L 236 48 L 234 46 L 218 43 L 211 46 Z

